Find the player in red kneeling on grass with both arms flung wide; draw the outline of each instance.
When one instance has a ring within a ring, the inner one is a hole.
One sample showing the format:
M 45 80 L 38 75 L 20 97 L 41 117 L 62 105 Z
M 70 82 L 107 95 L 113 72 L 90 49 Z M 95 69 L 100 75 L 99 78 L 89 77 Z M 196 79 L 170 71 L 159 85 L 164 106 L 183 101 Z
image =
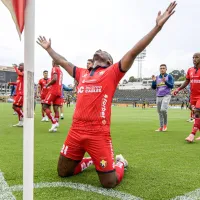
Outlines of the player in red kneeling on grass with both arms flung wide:
M 110 136 L 112 98 L 121 78 L 162 29 L 175 7 L 173 2 L 163 14 L 159 12 L 155 27 L 115 64 L 110 54 L 98 50 L 93 56 L 93 68 L 76 67 L 51 48 L 51 40 L 38 38 L 38 44 L 78 82 L 72 126 L 58 161 L 59 176 L 78 174 L 94 163 L 103 187 L 113 188 L 121 182 L 128 162 L 122 155 L 117 155 L 114 161 Z M 85 152 L 91 157 L 84 158 Z

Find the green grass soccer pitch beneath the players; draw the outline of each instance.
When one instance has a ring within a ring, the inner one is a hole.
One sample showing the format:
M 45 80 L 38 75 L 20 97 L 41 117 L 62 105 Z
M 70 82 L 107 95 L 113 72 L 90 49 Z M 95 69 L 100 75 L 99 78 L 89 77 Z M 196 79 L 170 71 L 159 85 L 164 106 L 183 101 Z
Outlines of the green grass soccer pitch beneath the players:
M 48 133 L 51 124 L 40 122 L 40 105 L 35 113 L 34 182 L 75 182 L 100 187 L 94 167 L 62 179 L 57 175 L 59 151 L 71 125 L 74 108 L 65 107 L 65 119 L 57 133 Z M 11 104 L 0 104 L 0 169 L 9 184 L 22 184 L 22 128 L 12 127 L 17 117 Z M 145 200 L 167 200 L 200 188 L 200 142 L 187 144 L 191 131 L 187 123 L 189 111 L 170 109 L 167 132 L 158 128 L 156 109 L 112 107 L 111 134 L 115 154 L 121 153 L 129 162 L 123 181 L 115 188 Z M 22 192 L 13 192 L 17 200 Z M 70 188 L 39 188 L 36 200 L 115 199 Z

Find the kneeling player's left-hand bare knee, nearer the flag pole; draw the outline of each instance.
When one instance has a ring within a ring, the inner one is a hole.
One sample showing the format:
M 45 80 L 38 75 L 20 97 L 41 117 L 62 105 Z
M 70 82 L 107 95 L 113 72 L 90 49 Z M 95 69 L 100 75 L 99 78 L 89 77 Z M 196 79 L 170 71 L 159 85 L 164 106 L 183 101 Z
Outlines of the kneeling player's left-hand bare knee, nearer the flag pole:
M 79 162 L 60 155 L 57 167 L 58 175 L 60 177 L 73 176 L 74 170 Z

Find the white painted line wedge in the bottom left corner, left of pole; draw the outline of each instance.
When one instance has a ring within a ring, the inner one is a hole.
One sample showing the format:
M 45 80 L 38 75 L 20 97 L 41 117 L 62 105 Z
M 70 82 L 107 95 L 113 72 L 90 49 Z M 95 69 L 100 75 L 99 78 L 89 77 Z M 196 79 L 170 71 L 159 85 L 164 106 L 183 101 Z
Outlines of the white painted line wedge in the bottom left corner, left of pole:
M 16 200 L 1 171 L 0 171 L 0 200 Z

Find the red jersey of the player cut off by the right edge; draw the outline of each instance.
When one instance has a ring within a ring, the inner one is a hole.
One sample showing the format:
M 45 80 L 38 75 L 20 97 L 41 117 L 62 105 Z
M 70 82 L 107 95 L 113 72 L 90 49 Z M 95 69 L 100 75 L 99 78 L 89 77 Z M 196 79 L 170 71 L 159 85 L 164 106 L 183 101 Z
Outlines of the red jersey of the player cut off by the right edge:
M 190 99 L 200 99 L 200 69 L 195 67 L 189 68 L 186 79 L 190 80 Z

